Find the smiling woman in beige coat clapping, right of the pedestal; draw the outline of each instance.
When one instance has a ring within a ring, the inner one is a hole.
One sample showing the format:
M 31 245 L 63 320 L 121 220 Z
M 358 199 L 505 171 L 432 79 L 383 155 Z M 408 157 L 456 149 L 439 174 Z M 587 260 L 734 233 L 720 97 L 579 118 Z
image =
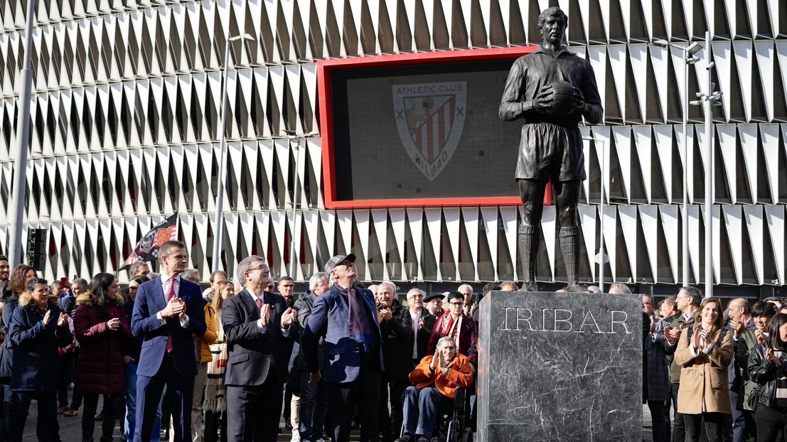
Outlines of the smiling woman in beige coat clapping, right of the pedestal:
M 686 442 L 700 440 L 703 419 L 708 442 L 722 440 L 723 414 L 730 414 L 727 366 L 732 358 L 733 337 L 722 328 L 722 304 L 708 298 L 675 350 L 675 363 L 682 366 L 678 413 L 684 414 Z

